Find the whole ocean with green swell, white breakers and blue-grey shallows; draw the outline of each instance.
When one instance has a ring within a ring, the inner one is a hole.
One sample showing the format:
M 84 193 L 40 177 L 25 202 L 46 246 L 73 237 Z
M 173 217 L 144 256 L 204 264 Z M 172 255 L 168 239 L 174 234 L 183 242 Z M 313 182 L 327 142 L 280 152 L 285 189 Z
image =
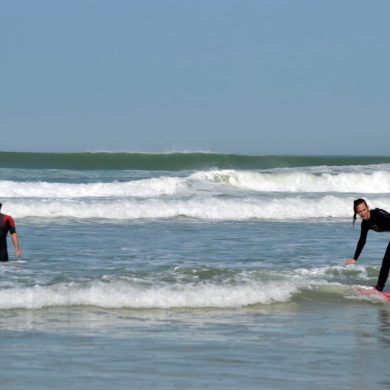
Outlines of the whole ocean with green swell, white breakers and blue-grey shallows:
M 0 152 L 0 388 L 390 388 L 357 197 L 390 157 Z

